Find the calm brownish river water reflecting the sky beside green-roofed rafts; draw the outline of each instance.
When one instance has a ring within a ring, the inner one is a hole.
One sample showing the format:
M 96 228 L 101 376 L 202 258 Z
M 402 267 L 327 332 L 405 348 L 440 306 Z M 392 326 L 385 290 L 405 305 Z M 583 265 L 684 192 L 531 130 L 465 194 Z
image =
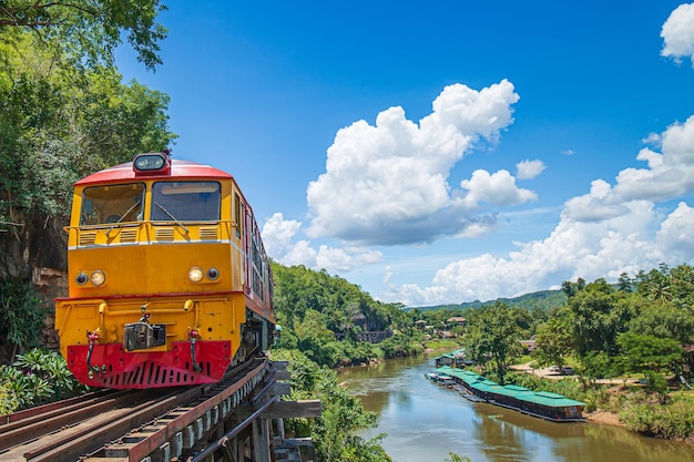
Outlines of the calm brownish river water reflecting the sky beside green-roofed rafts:
M 693 462 L 694 448 L 596 423 L 555 423 L 488 403 L 471 403 L 425 378 L 435 356 L 346 368 L 339 380 L 377 412 L 381 444 L 396 462 Z

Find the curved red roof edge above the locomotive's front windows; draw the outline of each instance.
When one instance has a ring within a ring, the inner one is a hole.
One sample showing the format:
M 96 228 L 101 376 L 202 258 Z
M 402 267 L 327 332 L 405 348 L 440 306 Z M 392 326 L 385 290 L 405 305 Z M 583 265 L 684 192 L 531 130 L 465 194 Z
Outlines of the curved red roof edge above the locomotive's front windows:
M 200 179 L 200 178 L 216 178 L 216 179 L 226 179 L 232 178 L 232 175 L 228 173 L 221 171 L 218 168 L 212 167 L 210 165 L 198 164 L 196 162 L 190 161 L 181 161 L 177 158 L 171 160 L 171 174 L 162 174 L 162 175 L 147 175 L 145 177 L 135 175 L 133 170 L 133 163 L 127 162 L 125 164 L 116 165 L 111 168 L 102 170 L 101 172 L 93 173 L 79 182 L 76 182 L 75 186 L 84 186 L 89 184 L 102 184 L 102 183 L 118 183 L 122 181 L 134 181 L 134 179 L 156 179 L 156 178 L 169 178 L 169 179 Z

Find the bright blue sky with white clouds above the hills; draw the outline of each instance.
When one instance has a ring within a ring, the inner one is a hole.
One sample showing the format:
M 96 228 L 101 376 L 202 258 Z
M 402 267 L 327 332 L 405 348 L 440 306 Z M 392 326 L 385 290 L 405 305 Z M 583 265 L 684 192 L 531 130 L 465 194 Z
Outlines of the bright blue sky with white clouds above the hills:
M 164 2 L 123 80 L 280 264 L 406 306 L 694 264 L 694 3 Z

